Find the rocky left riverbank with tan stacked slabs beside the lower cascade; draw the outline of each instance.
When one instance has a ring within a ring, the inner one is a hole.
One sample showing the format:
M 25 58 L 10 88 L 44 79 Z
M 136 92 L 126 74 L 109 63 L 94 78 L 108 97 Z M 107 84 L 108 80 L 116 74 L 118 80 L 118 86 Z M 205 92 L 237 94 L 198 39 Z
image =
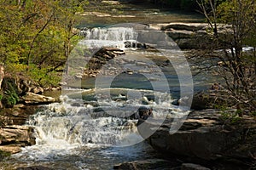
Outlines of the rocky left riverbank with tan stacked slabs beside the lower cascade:
M 33 128 L 25 125 L 26 120 L 55 98 L 44 96 L 44 88 L 25 77 L 6 75 L 2 82 L 0 150 L 14 154 L 36 143 Z

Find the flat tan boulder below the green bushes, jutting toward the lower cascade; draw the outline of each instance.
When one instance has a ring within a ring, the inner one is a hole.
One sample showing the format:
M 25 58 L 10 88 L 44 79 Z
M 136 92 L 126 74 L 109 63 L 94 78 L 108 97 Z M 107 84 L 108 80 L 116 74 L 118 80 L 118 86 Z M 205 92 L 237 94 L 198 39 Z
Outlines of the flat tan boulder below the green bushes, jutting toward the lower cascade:
M 29 105 L 43 105 L 55 102 L 55 99 L 52 97 L 44 96 L 41 94 L 33 94 L 28 92 L 25 96 L 22 97 L 25 104 Z

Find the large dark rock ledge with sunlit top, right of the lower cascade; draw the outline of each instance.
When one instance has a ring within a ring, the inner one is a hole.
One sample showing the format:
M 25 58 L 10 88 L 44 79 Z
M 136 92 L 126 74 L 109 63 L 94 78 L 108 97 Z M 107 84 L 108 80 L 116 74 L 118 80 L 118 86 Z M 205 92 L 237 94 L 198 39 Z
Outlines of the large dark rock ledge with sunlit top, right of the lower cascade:
M 201 160 L 232 158 L 251 161 L 256 156 L 256 120 L 244 116 L 236 125 L 224 121 L 217 110 L 193 111 L 177 133 L 170 127 L 177 122 L 166 119 L 148 139 L 155 150 Z

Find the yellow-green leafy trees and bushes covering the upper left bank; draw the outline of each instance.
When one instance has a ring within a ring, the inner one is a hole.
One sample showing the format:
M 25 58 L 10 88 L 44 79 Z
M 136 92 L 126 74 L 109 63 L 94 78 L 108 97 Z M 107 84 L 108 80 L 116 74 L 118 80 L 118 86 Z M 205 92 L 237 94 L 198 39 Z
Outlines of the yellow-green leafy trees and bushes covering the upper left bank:
M 42 85 L 63 66 L 78 42 L 74 26 L 85 0 L 0 0 L 0 62 L 6 72 L 35 78 Z M 55 77 L 57 77 L 56 75 Z

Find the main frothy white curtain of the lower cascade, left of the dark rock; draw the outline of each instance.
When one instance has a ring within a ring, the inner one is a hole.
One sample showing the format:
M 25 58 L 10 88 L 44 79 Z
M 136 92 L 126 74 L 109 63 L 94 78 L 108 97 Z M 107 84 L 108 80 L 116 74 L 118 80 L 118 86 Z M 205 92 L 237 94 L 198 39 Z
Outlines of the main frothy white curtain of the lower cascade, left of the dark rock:
M 125 131 L 136 131 L 136 122 L 96 111 L 91 105 L 74 105 L 75 100 L 49 105 L 32 116 L 37 144 L 116 144 Z M 100 109 L 98 109 L 100 110 Z M 98 115 L 98 116 L 95 116 Z

